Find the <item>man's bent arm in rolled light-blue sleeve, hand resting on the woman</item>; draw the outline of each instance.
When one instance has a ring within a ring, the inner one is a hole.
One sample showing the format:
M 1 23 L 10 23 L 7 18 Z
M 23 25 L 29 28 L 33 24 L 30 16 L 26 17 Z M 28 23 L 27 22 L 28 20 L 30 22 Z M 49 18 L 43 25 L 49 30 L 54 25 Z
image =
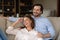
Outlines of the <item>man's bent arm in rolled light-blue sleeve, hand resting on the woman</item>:
M 45 24 L 48 33 L 47 34 L 38 33 L 38 36 L 43 38 L 53 38 L 55 36 L 55 30 L 53 28 L 53 25 L 48 19 L 46 20 Z

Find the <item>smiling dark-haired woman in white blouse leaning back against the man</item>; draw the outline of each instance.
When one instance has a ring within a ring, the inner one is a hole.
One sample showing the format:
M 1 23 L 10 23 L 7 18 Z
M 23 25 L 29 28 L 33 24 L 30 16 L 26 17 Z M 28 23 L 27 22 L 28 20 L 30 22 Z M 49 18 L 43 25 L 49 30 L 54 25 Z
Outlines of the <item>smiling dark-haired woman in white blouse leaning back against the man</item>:
M 6 32 L 15 35 L 15 40 L 43 40 L 41 37 L 38 37 L 38 32 L 34 30 L 34 19 L 31 16 L 24 16 L 23 19 L 19 18 L 7 28 Z M 24 28 L 14 29 L 14 26 L 21 21 L 23 21 Z

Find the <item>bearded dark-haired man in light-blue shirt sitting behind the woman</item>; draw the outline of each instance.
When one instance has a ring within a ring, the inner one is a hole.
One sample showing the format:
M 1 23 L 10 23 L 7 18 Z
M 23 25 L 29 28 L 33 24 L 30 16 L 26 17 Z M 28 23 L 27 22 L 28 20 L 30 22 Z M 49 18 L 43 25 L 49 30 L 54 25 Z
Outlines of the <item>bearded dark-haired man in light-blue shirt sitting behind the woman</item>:
M 33 15 L 35 20 L 35 30 L 39 32 L 38 36 L 44 40 L 53 40 L 55 30 L 47 18 L 41 16 L 43 13 L 43 6 L 41 4 L 33 5 Z M 9 18 L 10 21 L 16 21 L 15 18 Z

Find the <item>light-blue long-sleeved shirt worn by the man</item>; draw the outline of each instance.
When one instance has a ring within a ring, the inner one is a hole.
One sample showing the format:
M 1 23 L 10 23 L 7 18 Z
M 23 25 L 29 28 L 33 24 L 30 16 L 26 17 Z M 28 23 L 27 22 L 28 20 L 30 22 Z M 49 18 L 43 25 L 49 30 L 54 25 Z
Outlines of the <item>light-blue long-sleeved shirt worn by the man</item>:
M 50 33 L 51 38 L 44 38 L 44 40 L 52 39 L 55 36 L 53 25 L 47 18 L 42 16 L 38 18 L 33 16 L 33 18 L 35 19 L 35 30 L 41 32 L 42 34 L 47 34 L 48 32 Z

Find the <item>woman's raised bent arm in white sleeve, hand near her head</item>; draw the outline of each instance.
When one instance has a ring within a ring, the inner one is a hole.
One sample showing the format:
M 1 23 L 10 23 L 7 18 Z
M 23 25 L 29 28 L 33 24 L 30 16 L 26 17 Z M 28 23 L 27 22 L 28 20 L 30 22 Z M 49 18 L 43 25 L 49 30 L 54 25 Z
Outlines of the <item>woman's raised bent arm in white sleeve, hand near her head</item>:
M 14 29 L 14 27 L 21 22 L 22 20 L 19 18 L 16 22 L 14 22 L 11 26 L 9 26 L 6 30 L 6 33 L 16 35 L 16 33 L 19 31 L 18 29 Z

